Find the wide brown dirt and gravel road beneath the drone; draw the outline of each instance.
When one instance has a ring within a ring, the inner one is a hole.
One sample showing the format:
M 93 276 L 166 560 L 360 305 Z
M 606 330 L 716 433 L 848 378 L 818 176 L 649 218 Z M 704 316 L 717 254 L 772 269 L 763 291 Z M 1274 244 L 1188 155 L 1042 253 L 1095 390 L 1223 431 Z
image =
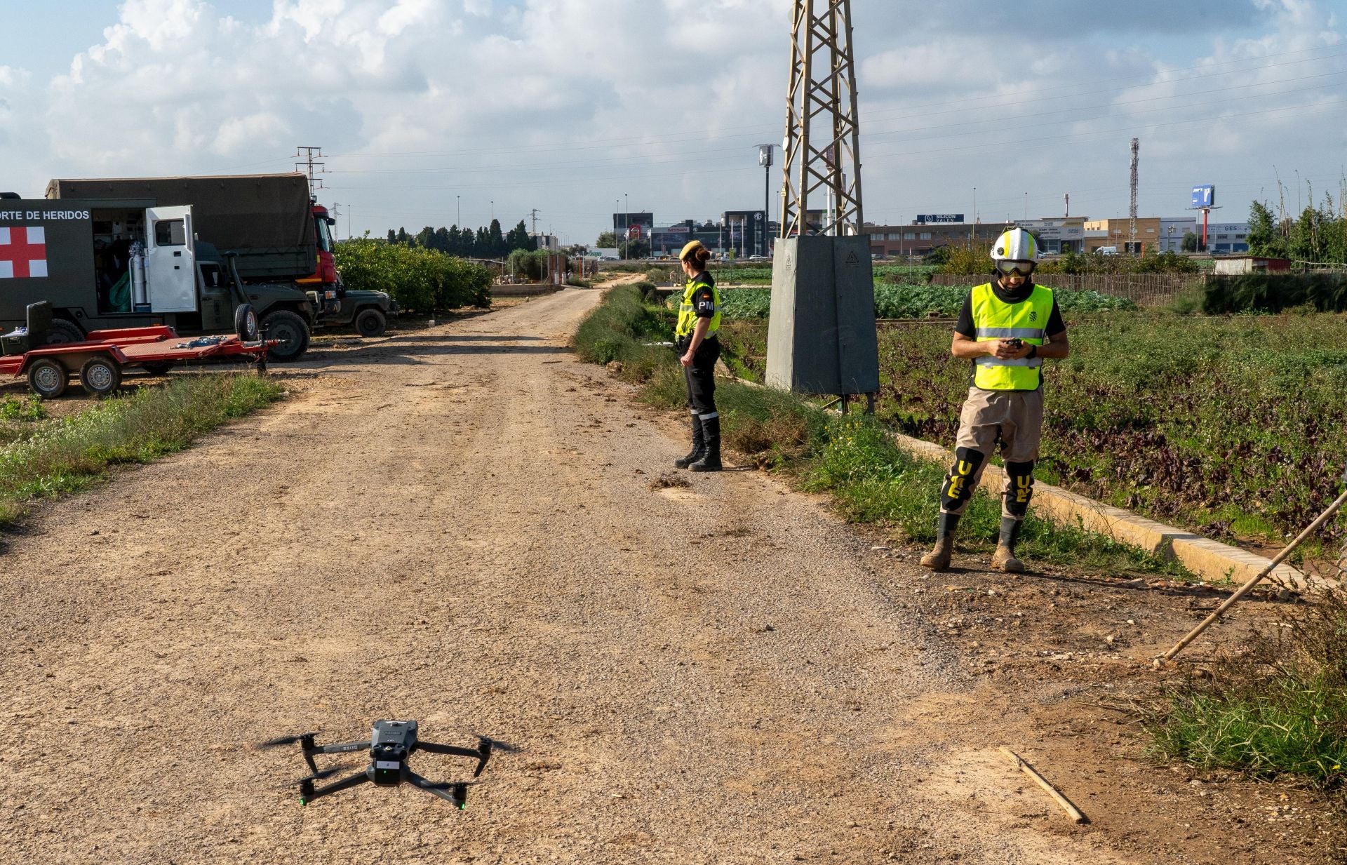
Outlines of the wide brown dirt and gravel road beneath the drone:
M 652 489 L 684 442 L 567 352 L 597 299 L 314 360 L 11 538 L 0 860 L 1299 861 L 1200 838 L 1233 811 L 1121 752 L 1096 775 L 1119 733 L 1044 724 L 1060 682 L 971 675 L 898 601 L 942 582 L 820 500 L 754 472 Z M 521 750 L 459 812 L 408 787 L 300 807 L 298 746 L 249 748 L 376 718 Z

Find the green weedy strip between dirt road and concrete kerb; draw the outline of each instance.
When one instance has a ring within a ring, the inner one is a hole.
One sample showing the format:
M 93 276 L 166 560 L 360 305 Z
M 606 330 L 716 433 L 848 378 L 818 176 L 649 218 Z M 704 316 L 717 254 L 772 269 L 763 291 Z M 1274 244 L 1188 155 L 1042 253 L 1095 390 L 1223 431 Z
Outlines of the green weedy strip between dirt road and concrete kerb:
M 668 317 L 652 292 L 643 295 L 637 287 L 621 286 L 581 323 L 574 346 L 585 360 L 607 364 L 620 377 L 640 384 L 647 403 L 678 408 L 687 400 L 682 368 L 668 348 L 647 345 L 672 338 Z M 760 468 L 784 472 L 804 489 L 832 494 L 838 509 L 854 523 L 892 530 L 912 543 L 933 540 L 944 468 L 901 450 L 876 419 L 832 415 L 792 393 L 734 383 L 719 384 L 715 400 L 725 443 Z M 999 500 L 979 489 L 960 523 L 960 547 L 990 551 L 999 525 Z M 1032 512 L 1020 550 L 1048 565 L 1188 575 L 1176 562 Z

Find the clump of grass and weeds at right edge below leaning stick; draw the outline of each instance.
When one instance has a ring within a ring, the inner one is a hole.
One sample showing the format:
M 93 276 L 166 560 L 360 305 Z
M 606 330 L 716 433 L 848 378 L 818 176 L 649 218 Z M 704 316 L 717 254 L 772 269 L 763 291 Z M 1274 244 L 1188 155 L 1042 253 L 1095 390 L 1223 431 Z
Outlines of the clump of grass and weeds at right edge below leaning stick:
M 1255 633 L 1145 721 L 1153 755 L 1340 788 L 1347 771 L 1347 602 L 1328 593 Z

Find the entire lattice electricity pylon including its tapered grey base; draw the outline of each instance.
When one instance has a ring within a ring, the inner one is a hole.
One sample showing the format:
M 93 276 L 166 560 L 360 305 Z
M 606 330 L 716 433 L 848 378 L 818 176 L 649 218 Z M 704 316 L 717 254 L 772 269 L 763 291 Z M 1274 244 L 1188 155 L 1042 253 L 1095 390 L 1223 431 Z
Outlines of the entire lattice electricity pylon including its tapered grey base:
M 861 212 L 851 0 L 795 0 L 781 229 L 772 259 L 766 383 L 803 393 L 880 389 L 874 268 Z M 850 174 L 847 174 L 850 172 Z M 827 195 L 810 222 L 810 199 Z

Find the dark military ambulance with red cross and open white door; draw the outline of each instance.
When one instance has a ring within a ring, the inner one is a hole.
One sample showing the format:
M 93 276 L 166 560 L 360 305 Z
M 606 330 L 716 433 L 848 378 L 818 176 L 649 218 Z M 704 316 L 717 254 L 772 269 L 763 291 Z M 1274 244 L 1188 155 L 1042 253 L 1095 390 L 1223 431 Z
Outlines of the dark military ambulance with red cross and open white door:
M 0 327 L 51 302 L 47 342 L 77 342 L 90 330 L 168 325 L 179 333 L 232 333 L 252 305 L 269 357 L 308 348 L 314 303 L 291 283 L 245 283 L 237 256 L 198 237 L 190 206 L 144 198 L 26 199 L 0 193 Z

